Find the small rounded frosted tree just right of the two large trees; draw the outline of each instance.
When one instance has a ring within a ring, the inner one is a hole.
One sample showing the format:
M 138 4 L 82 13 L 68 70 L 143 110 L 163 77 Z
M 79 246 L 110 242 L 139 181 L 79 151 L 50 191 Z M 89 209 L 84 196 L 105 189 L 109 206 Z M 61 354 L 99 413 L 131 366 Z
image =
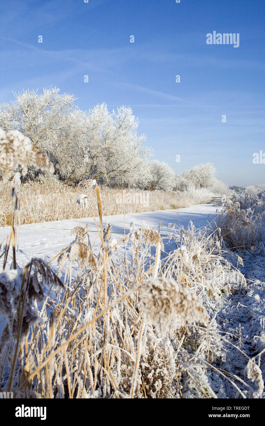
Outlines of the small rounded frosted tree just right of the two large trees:
M 175 185 L 174 170 L 165 161 L 153 160 L 149 163 L 150 178 L 148 190 L 172 190 Z

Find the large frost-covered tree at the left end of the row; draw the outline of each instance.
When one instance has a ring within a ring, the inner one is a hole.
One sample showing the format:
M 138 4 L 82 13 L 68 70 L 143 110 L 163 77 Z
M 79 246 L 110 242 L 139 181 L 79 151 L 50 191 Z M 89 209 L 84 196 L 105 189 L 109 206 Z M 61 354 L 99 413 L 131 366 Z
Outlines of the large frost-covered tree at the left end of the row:
M 59 94 L 59 89 L 24 91 L 14 94 L 10 104 L 1 104 L 0 126 L 4 130 L 17 129 L 45 152 L 55 167 L 55 173 L 62 177 L 68 174 L 77 155 L 80 130 L 85 116 L 74 105 L 73 95 Z M 74 153 L 74 159 L 71 158 Z

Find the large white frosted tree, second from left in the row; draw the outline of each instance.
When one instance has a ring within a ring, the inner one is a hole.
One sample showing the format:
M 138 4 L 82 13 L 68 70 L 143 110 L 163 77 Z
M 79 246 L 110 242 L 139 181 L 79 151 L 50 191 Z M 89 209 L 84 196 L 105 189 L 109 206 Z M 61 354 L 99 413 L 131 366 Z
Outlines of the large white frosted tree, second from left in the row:
M 129 107 L 112 113 L 105 104 L 89 111 L 89 148 L 86 156 L 89 173 L 94 179 L 116 186 L 134 186 L 137 173 L 151 153 L 142 143 L 146 135 L 137 135 L 139 120 Z

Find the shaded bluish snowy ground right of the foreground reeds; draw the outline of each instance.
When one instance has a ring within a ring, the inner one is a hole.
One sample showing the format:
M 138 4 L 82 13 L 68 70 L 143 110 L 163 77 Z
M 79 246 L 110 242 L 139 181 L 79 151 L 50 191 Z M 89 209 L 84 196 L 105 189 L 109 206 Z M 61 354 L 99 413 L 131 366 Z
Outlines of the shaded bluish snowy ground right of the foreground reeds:
M 245 276 L 247 289 L 240 291 L 240 286 L 234 286 L 231 293 L 222 294 L 211 302 L 210 317 L 216 321 L 214 328 L 217 333 L 215 337 L 213 334 L 212 349 L 219 355 L 219 359 L 215 358 L 212 365 L 226 375 L 228 373 L 228 377 L 231 374 L 231 379 L 245 397 L 264 399 L 265 259 L 264 256 L 254 255 L 248 251 L 245 251 L 242 257 L 244 266 L 239 266 L 238 269 Z M 219 343 L 217 335 L 221 337 Z M 247 377 L 249 360 L 253 360 L 258 367 L 254 367 L 256 368 L 252 374 L 254 380 Z M 240 395 L 221 375 L 209 371 L 206 376 L 218 398 L 242 397 L 242 394 Z M 236 376 L 239 380 L 235 379 Z M 250 388 L 245 386 L 242 380 L 251 386 L 253 396 Z

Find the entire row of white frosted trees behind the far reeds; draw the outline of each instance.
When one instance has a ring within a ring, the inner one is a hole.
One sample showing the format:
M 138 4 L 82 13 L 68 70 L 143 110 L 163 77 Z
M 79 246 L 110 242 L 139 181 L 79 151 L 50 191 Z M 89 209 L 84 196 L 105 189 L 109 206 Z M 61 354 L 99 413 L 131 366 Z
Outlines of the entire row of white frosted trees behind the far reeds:
M 215 178 L 211 163 L 176 175 L 166 162 L 151 161 L 152 149 L 144 146 L 145 134 L 137 135 L 139 119 L 130 107 L 109 112 L 106 104 L 98 104 L 83 111 L 76 100 L 56 87 L 43 93 L 14 93 L 14 101 L 0 104 L 0 127 L 28 136 L 48 155 L 54 174 L 66 184 L 92 178 L 111 187 L 227 189 Z M 31 170 L 31 176 L 34 173 Z

